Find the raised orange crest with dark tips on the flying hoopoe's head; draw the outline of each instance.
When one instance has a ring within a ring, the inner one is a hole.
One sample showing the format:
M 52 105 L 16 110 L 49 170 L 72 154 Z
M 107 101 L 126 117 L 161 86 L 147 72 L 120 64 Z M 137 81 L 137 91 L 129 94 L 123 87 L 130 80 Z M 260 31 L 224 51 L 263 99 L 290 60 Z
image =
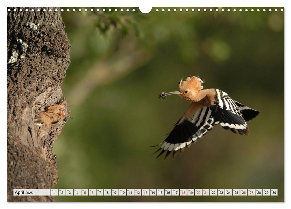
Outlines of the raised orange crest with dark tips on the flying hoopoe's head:
M 182 80 L 179 82 L 179 89 L 180 92 L 185 92 L 192 90 L 194 92 L 197 92 L 201 89 L 203 89 L 204 79 L 200 78 L 199 76 L 188 76 L 186 80 Z

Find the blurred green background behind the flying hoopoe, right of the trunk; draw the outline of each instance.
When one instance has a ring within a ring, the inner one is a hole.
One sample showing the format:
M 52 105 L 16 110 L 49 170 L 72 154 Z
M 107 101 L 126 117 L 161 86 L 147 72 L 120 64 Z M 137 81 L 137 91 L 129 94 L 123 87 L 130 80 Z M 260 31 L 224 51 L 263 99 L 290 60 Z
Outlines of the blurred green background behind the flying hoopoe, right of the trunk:
M 148 14 L 138 8 L 64 8 L 72 47 L 63 91 L 74 105 L 74 119 L 54 144 L 55 188 L 277 188 L 278 196 L 57 196 L 56 201 L 284 201 L 282 8 L 163 8 Z M 174 160 L 155 159 L 158 147 L 150 146 L 165 139 L 190 105 L 158 94 L 178 90 L 189 75 L 260 115 L 248 122 L 249 136 L 217 125 Z

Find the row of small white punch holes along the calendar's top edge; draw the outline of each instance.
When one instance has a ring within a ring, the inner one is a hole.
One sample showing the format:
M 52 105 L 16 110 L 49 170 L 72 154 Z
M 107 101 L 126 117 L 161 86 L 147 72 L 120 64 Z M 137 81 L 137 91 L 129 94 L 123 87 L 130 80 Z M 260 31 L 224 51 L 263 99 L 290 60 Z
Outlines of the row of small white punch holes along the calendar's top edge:
M 42 9 L 42 10 L 43 10 L 43 12 L 46 11 L 46 9 Z M 7 11 L 10 12 L 10 9 L 7 9 Z M 13 11 L 16 12 L 16 9 L 13 9 Z M 19 9 L 19 11 L 22 12 L 22 9 Z M 28 12 L 28 9 L 25 9 L 24 11 L 25 12 Z M 34 9 L 31 9 L 31 11 L 33 12 Z M 37 11 L 40 12 L 40 9 L 37 9 Z M 52 9 L 49 9 L 48 11 L 51 12 Z M 58 11 L 58 9 L 55 9 L 55 12 L 57 12 L 57 11 Z M 61 12 L 64 12 L 64 11 L 65 11 L 64 9 L 61 9 Z M 73 9 L 72 11 L 75 12 L 76 9 Z M 84 9 L 84 11 L 87 12 L 88 9 Z M 94 9 L 91 9 L 90 11 L 93 12 Z M 99 9 L 96 9 L 96 11 L 99 12 L 100 10 Z M 105 12 L 106 10 L 105 9 L 102 9 L 102 11 Z M 108 9 L 107 11 L 108 12 L 111 12 L 112 10 L 111 9 Z M 117 12 L 118 10 L 117 9 L 114 9 L 114 11 Z M 132 9 L 132 11 L 134 12 L 135 9 Z M 159 9 L 156 9 L 156 11 L 159 12 Z M 165 9 L 162 9 L 161 11 L 164 12 Z M 173 11 L 176 12 L 177 9 L 174 9 Z M 183 9 L 180 9 L 179 11 L 182 12 Z M 185 11 L 188 12 L 189 9 L 185 9 Z M 194 9 L 191 9 L 191 11 L 194 12 L 195 10 Z M 197 9 L 197 12 L 200 12 L 200 11 L 201 11 L 200 9 Z M 203 9 L 203 11 L 206 12 L 207 10 L 206 9 Z M 212 12 L 212 11 L 213 11 L 212 9 L 209 9 L 209 12 Z M 218 9 L 215 9 L 215 11 L 218 12 L 219 10 Z M 220 11 L 221 12 L 224 12 L 224 9 L 220 9 Z M 226 11 L 227 12 L 230 12 L 230 9 L 227 9 Z M 233 9 L 233 11 L 236 12 L 236 9 Z M 242 9 L 239 9 L 239 11 L 241 12 L 243 10 Z M 248 9 L 245 9 L 245 11 L 247 12 Z M 251 9 L 251 12 L 253 12 L 253 11 L 254 11 L 254 9 Z M 257 11 L 260 12 L 260 9 L 257 9 Z M 266 11 L 266 9 L 263 9 L 263 12 L 265 12 L 265 11 Z M 278 11 L 278 9 L 275 9 L 275 12 L 277 12 L 277 11 Z M 283 12 L 283 11 L 284 11 L 284 9 L 281 9 L 281 12 Z M 70 9 L 67 9 L 67 12 L 70 12 Z M 82 9 L 79 9 L 79 12 L 82 12 Z M 123 12 L 123 9 L 120 9 L 120 12 Z M 129 9 L 126 9 L 126 12 L 129 12 Z M 171 9 L 168 9 L 168 12 L 171 12 Z M 269 9 L 269 12 L 272 12 L 272 9 Z

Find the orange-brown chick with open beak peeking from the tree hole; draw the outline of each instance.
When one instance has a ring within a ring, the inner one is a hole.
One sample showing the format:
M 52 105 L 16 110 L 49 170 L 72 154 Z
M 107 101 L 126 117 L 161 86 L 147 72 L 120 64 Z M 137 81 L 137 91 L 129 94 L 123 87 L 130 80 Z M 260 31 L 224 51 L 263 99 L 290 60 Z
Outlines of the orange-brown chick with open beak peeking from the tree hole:
M 67 107 L 71 107 L 67 106 Z M 38 112 L 35 113 L 34 116 L 34 122 L 36 123 L 36 125 L 42 126 L 42 125 L 51 125 L 52 123 L 56 123 L 62 119 L 64 119 L 65 117 L 69 117 L 70 116 L 66 115 L 64 112 L 64 109 L 67 109 L 67 107 L 63 106 L 63 105 L 51 105 L 49 107 L 45 107 L 43 112 Z M 73 119 L 73 118 L 72 118 Z

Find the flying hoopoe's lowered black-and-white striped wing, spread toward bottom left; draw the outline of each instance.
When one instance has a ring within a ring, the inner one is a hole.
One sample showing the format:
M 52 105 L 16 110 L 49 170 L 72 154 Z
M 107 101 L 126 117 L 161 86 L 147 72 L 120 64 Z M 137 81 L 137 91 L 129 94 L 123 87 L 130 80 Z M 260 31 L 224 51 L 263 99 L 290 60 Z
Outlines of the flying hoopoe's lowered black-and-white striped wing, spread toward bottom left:
M 212 129 L 214 118 L 210 107 L 204 107 L 192 103 L 181 119 L 176 123 L 174 129 L 169 133 L 168 137 L 162 142 L 159 150 L 162 150 L 157 158 L 165 151 L 165 159 L 173 151 L 173 159 L 177 152 L 180 154 L 183 150 L 190 147 L 191 143 L 197 142 L 208 131 Z M 156 152 L 158 152 L 157 150 Z

